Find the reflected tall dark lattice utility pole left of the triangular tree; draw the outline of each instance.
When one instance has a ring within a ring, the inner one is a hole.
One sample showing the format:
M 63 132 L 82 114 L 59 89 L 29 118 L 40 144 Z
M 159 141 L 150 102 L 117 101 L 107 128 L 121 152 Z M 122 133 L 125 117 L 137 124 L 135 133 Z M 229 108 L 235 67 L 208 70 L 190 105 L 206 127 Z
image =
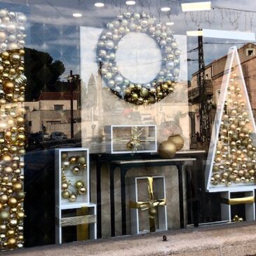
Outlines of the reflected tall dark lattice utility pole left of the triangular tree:
M 201 29 L 198 29 L 199 31 Z M 205 65 L 203 59 L 203 36 L 198 36 L 198 76 L 199 89 L 199 114 L 200 114 L 200 138 L 201 142 L 210 141 L 210 116 L 208 109 L 208 97 L 206 92 Z

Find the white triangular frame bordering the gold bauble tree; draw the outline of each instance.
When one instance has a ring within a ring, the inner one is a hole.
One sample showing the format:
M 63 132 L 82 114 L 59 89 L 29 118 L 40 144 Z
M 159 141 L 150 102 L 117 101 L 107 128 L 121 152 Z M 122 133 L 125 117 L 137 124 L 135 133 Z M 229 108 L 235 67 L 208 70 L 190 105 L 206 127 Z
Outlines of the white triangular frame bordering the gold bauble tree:
M 230 186 L 227 186 L 227 184 L 218 184 L 214 185 L 211 183 L 211 177 L 213 175 L 213 166 L 215 161 L 215 154 L 217 150 L 217 142 L 219 140 L 219 133 L 220 133 L 220 126 L 222 121 L 222 115 L 224 113 L 224 105 L 225 101 L 227 99 L 227 93 L 228 93 L 228 86 L 229 86 L 229 79 L 232 73 L 232 68 L 234 68 L 233 64 L 236 64 L 235 67 L 237 72 L 239 73 L 238 76 L 240 76 L 240 85 L 241 89 L 243 90 L 244 94 L 244 102 L 247 105 L 247 112 L 248 112 L 248 119 L 250 120 L 250 125 L 252 126 L 252 133 L 250 134 L 250 138 L 252 139 L 252 144 L 256 145 L 255 140 L 255 133 L 256 133 L 256 126 L 255 126 L 255 119 L 252 114 L 252 108 L 250 105 L 250 100 L 248 97 L 248 91 L 245 86 L 245 80 L 243 77 L 243 71 L 241 68 L 241 62 L 238 55 L 238 50 L 236 46 L 233 46 L 229 48 L 229 53 L 227 55 L 227 61 L 224 69 L 224 75 L 222 78 L 222 85 L 220 90 L 220 97 L 217 104 L 216 109 L 216 115 L 215 115 L 215 121 L 213 124 L 213 130 L 212 130 L 212 136 L 210 140 L 210 147 L 208 151 L 208 159 L 206 162 L 206 191 L 209 192 L 219 192 L 219 191 L 248 191 L 249 189 L 255 189 L 256 183 L 250 182 L 248 184 L 246 183 L 239 183 L 239 184 L 231 184 Z

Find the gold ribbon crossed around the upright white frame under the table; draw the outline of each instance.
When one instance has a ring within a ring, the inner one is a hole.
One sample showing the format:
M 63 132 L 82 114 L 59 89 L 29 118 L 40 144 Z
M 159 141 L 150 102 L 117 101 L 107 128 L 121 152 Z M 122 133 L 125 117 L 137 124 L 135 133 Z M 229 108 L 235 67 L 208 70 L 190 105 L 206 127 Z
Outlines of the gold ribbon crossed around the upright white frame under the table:
M 130 208 L 140 210 L 149 210 L 149 227 L 150 232 L 156 231 L 155 215 L 157 206 L 166 206 L 166 198 L 154 200 L 153 177 L 147 177 L 147 189 L 149 193 L 149 201 L 130 202 Z

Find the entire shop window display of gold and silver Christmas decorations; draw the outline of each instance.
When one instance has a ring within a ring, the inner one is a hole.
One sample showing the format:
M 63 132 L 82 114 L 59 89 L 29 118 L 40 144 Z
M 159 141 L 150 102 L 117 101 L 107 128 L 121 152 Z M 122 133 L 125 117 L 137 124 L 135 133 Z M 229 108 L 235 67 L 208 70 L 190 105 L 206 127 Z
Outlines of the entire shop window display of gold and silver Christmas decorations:
M 255 220 L 254 20 L 215 2 L 0 2 L 0 250 Z

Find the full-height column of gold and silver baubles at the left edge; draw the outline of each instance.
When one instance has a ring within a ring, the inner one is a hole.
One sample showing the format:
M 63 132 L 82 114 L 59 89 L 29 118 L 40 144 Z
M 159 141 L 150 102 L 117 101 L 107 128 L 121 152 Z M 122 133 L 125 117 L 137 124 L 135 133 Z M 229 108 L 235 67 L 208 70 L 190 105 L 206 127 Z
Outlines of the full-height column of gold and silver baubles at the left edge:
M 0 250 L 23 246 L 26 16 L 0 10 Z

